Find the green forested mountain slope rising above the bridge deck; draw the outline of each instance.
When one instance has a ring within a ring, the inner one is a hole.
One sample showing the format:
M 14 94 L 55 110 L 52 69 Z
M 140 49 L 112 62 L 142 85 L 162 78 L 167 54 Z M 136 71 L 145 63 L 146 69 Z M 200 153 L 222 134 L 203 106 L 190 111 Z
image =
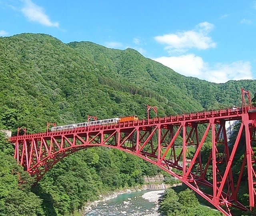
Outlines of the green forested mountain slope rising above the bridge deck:
M 130 48 L 114 50 L 92 42 L 64 44 L 44 34 L 0 38 L 2 128 L 45 129 L 46 122 L 81 122 L 137 114 L 146 104 L 159 115 L 220 108 L 240 102 L 240 88 L 254 92 L 255 80 L 214 84 L 182 76 Z

